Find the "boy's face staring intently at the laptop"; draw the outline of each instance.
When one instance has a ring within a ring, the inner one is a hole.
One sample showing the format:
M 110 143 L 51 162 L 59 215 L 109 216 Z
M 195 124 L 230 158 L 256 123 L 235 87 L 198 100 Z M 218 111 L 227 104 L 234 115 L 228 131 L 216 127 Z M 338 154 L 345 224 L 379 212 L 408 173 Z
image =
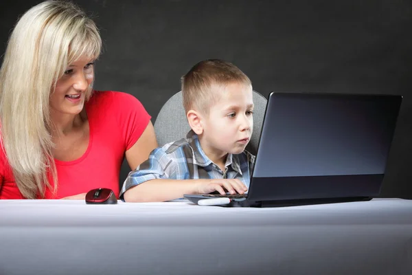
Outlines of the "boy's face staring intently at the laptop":
M 224 89 L 209 115 L 202 119 L 202 147 L 205 153 L 213 155 L 242 153 L 253 131 L 251 87 L 231 83 Z

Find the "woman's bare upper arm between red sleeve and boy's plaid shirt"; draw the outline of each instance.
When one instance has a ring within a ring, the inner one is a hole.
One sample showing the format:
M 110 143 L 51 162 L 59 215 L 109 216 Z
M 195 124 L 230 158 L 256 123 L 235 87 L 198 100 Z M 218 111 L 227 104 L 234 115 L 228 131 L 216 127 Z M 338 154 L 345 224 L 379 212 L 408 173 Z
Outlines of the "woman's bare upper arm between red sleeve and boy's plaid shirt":
M 139 140 L 126 151 L 126 160 L 130 169 L 135 170 L 137 166 L 148 159 L 150 152 L 157 148 L 157 146 L 155 129 L 152 122 L 149 121 Z

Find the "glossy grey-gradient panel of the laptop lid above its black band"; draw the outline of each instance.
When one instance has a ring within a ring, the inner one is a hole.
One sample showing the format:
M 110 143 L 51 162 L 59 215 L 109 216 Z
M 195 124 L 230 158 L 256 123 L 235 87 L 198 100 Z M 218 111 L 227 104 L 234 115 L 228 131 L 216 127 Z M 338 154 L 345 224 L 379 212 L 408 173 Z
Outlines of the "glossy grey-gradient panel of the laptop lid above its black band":
M 253 177 L 384 173 L 401 99 L 271 94 Z

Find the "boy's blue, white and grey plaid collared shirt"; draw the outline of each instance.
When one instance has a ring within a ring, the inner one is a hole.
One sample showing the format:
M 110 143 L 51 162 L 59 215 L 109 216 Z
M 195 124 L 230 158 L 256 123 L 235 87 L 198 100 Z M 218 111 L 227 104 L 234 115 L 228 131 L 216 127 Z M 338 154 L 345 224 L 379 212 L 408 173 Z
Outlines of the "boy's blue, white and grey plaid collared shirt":
M 198 136 L 190 131 L 186 139 L 153 150 L 146 162 L 129 173 L 120 196 L 150 179 L 240 179 L 249 188 L 254 163 L 255 156 L 247 151 L 228 154 L 222 171 L 205 155 Z

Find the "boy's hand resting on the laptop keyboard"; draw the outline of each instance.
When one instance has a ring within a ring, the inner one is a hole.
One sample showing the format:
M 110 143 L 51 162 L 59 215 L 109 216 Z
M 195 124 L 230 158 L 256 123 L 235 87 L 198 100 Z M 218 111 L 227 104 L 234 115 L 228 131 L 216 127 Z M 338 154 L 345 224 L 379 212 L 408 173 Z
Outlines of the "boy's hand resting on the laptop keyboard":
M 214 191 L 218 191 L 220 195 L 226 195 L 227 192 L 233 194 L 244 194 L 247 191 L 247 187 L 239 179 L 207 179 L 201 180 L 198 183 L 198 194 L 205 194 Z

